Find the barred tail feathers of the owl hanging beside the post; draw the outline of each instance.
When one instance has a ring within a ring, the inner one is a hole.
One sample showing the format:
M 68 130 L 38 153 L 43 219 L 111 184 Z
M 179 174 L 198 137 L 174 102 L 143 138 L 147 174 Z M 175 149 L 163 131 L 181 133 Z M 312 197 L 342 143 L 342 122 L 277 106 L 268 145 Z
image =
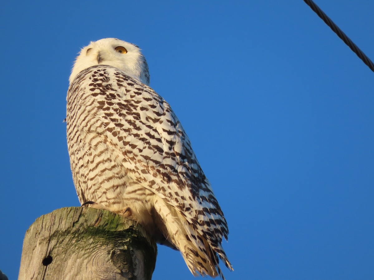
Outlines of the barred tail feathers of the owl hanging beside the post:
M 221 276 L 219 258 L 232 270 L 232 266 L 220 244 L 212 245 L 202 236 L 196 225 L 188 223 L 185 217 L 161 198 L 154 201 L 154 207 L 163 225 L 165 238 L 181 252 L 188 269 L 194 276 Z

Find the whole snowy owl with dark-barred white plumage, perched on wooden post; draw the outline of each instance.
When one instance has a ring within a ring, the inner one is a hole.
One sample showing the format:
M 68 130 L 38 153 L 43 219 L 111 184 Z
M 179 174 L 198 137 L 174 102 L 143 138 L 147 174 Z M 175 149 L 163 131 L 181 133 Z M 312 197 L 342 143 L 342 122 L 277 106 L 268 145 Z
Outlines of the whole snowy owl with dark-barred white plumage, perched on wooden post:
M 148 85 L 134 44 L 106 38 L 81 50 L 66 119 L 79 200 L 138 221 L 194 275 L 222 276 L 217 254 L 232 269 L 223 212 L 177 116 Z

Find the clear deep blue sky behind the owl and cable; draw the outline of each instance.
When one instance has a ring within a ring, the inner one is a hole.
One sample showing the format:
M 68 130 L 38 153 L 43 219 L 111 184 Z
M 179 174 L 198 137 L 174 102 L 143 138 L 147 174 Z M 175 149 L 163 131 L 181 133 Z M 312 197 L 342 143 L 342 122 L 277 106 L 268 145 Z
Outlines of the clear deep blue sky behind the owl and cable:
M 316 3 L 374 59 L 372 0 Z M 68 77 L 106 37 L 143 49 L 187 131 L 229 224 L 227 279 L 374 278 L 374 73 L 304 1 L 5 1 L 0 22 L 9 279 L 35 219 L 79 206 Z M 153 279 L 193 276 L 159 246 Z

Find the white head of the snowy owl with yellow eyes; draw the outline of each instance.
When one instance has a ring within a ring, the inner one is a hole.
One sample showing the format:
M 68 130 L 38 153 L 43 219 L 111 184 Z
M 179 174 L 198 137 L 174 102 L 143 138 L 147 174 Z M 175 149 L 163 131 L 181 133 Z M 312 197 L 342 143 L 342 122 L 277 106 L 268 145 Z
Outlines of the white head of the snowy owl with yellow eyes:
M 81 71 L 95 65 L 113 66 L 129 77 L 149 85 L 147 61 L 140 48 L 134 44 L 116 38 L 91 42 L 77 56 L 69 78 L 70 84 Z

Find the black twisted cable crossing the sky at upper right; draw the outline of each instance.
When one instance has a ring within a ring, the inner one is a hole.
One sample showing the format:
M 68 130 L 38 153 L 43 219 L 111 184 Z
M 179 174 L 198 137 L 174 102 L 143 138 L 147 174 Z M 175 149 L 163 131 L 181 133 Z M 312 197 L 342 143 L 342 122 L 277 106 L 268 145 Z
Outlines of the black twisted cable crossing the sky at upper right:
M 374 72 L 374 64 L 370 58 L 367 57 L 365 53 L 363 53 L 362 50 L 360 50 L 359 47 L 356 46 L 356 44 L 353 43 L 352 40 L 350 40 L 350 38 L 348 38 L 332 20 L 312 0 L 304 0 L 304 2 L 307 3 L 308 6 L 325 22 L 325 24 L 327 24 L 331 30 L 334 31 L 336 35 L 338 35 L 339 38 L 343 40 L 344 43 L 346 43 L 347 46 L 350 47 L 350 49 L 353 50 L 353 52 L 355 52 L 367 66 L 369 66 L 371 71 Z

